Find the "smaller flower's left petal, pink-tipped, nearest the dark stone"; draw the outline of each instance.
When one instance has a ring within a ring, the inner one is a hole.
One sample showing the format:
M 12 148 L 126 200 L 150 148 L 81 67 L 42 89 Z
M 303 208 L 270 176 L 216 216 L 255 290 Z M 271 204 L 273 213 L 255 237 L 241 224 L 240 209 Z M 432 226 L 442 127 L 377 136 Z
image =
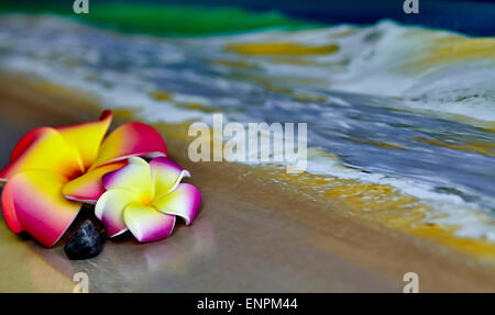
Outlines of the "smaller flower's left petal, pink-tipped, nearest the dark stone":
M 103 222 L 110 237 L 128 230 L 122 212 L 136 199 L 138 194 L 127 189 L 111 189 L 100 196 L 95 206 L 95 215 Z

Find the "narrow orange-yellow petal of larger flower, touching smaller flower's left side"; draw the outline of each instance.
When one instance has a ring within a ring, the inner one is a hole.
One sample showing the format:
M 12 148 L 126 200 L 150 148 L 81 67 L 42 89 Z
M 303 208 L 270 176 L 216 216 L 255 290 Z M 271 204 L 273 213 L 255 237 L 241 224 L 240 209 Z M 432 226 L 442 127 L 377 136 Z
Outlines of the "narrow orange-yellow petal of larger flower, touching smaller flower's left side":
M 100 195 L 105 192 L 102 177 L 113 170 L 120 169 L 128 165 L 128 161 L 117 161 L 101 166 L 87 173 L 67 182 L 62 193 L 69 200 L 76 200 L 86 203 L 96 203 Z

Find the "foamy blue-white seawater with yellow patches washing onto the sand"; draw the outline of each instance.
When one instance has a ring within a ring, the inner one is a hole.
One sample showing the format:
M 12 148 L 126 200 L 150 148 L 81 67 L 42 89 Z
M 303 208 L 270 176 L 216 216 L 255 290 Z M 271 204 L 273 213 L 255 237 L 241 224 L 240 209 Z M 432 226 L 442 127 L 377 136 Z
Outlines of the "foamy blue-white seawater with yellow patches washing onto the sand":
M 160 38 L 11 15 L 0 19 L 0 67 L 148 122 L 211 123 L 222 112 L 307 123 L 310 172 L 395 187 L 443 207 L 460 235 L 495 240 L 494 38 L 387 21 Z

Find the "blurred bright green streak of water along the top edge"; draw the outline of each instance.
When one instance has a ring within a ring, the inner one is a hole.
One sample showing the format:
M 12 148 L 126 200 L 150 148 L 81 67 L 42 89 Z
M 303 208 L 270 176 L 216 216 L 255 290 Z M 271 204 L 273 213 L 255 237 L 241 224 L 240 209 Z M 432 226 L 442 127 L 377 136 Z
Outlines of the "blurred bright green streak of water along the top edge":
M 0 13 L 56 14 L 100 27 L 125 33 L 152 35 L 208 35 L 239 33 L 256 29 L 300 29 L 306 21 L 289 19 L 278 12 L 250 12 L 238 8 L 206 8 L 156 4 L 91 3 L 89 14 L 75 14 L 67 5 L 0 4 Z M 315 26 L 315 25 L 311 25 Z

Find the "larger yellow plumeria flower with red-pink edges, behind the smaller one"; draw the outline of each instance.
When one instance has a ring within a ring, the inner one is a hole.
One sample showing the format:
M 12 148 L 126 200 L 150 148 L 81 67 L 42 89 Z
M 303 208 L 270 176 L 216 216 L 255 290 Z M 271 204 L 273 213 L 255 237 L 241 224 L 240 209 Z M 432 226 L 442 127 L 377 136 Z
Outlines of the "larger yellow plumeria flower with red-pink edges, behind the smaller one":
M 151 126 L 129 123 L 105 140 L 112 115 L 64 127 L 38 127 L 14 147 L 0 171 L 3 217 L 14 233 L 25 230 L 46 247 L 57 243 L 77 216 L 81 202 L 105 192 L 103 175 L 132 156 L 166 156 L 161 135 Z

